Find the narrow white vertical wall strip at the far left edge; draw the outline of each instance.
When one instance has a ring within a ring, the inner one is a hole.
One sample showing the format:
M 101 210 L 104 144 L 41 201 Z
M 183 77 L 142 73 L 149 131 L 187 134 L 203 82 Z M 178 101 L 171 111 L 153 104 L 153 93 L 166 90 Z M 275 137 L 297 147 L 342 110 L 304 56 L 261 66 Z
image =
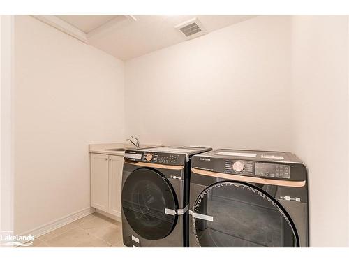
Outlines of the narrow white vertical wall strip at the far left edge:
M 13 233 L 13 27 L 13 16 L 0 15 L 0 234 L 3 236 Z

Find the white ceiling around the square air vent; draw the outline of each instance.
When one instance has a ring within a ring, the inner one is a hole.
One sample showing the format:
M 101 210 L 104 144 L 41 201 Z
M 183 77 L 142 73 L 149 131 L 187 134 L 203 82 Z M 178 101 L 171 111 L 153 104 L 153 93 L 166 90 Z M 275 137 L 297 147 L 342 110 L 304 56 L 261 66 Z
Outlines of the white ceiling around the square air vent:
M 251 15 L 57 15 L 86 34 L 87 42 L 122 60 L 186 41 L 175 26 L 198 17 L 207 32 Z

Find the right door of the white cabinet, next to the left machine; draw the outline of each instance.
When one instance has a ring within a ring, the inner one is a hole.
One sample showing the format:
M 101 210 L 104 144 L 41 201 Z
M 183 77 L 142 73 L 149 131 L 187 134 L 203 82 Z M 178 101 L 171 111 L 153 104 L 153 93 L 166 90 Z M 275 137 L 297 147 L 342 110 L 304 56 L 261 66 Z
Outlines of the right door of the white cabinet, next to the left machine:
M 109 213 L 121 217 L 121 181 L 124 157 L 110 156 Z

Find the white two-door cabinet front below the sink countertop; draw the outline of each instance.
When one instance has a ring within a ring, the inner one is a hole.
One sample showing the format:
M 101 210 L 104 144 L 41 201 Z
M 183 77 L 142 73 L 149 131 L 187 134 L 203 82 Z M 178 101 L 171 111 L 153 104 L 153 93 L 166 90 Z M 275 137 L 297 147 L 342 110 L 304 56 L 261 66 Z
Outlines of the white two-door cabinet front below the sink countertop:
M 124 158 L 91 154 L 91 206 L 121 217 L 121 179 Z

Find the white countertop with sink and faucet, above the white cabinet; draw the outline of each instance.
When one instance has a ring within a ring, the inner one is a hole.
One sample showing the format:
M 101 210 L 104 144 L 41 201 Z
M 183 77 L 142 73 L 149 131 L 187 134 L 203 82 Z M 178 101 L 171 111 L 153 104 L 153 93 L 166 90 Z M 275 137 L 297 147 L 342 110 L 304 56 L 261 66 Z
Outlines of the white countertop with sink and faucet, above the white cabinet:
M 158 145 L 143 145 L 140 144 L 140 148 L 147 148 L 147 147 L 157 147 Z M 125 151 L 112 151 L 108 149 L 113 148 L 125 148 L 125 149 L 135 149 L 135 146 L 131 143 L 106 143 L 106 144 L 90 144 L 89 145 L 89 152 L 90 153 L 96 153 L 96 154 L 114 154 L 116 156 L 124 156 Z

